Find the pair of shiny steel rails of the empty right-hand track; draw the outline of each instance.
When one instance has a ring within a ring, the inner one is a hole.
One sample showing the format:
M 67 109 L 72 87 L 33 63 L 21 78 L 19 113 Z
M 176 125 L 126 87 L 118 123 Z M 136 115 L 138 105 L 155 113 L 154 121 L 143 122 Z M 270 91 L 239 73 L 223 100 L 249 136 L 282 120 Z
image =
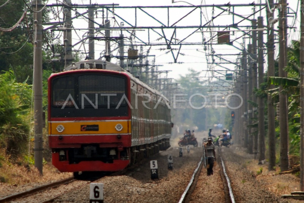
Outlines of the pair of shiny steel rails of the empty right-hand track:
M 225 202 L 229 203 L 235 203 L 234 200 L 234 195 L 233 195 L 233 190 L 230 184 L 230 178 L 226 172 L 226 167 L 225 163 L 221 157 L 221 150 L 218 148 L 218 153 L 217 153 L 217 160 L 220 160 L 219 163 L 219 175 L 222 178 L 223 181 L 223 191 L 224 191 L 224 197 L 223 199 Z M 184 193 L 181 195 L 180 200 L 178 203 L 185 203 L 185 202 L 192 202 L 192 194 L 196 189 L 196 185 L 198 184 L 199 181 L 202 181 L 203 179 L 200 179 L 200 175 L 206 176 L 206 174 L 201 174 L 202 173 L 202 168 L 204 167 L 204 157 L 201 158 L 200 162 L 198 163 L 197 168 L 192 174 L 192 178 L 190 179 L 187 188 L 185 189 Z M 212 178 L 212 176 L 211 176 Z

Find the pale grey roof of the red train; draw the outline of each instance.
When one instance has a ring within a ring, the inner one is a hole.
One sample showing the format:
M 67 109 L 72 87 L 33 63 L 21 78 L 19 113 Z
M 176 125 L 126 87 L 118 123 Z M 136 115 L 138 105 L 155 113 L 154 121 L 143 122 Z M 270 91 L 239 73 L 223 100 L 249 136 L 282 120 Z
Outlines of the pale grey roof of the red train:
M 150 92 L 155 93 L 159 96 L 162 95 L 162 93 L 159 92 L 158 90 L 154 89 L 153 87 L 150 87 L 146 83 L 143 83 L 141 80 L 139 80 L 138 78 L 133 76 L 131 73 L 129 73 L 122 67 L 116 65 L 115 63 L 111 63 L 109 61 L 97 60 L 97 59 L 78 61 L 78 62 L 72 63 L 72 65 L 70 65 L 70 66 L 67 66 L 64 69 L 64 71 L 73 71 L 73 70 L 79 70 L 79 69 L 103 69 L 103 70 L 113 70 L 113 71 L 123 72 L 123 73 L 127 74 L 136 83 L 147 88 Z M 165 96 L 164 96 L 164 99 L 166 99 L 167 102 L 169 103 L 169 100 Z

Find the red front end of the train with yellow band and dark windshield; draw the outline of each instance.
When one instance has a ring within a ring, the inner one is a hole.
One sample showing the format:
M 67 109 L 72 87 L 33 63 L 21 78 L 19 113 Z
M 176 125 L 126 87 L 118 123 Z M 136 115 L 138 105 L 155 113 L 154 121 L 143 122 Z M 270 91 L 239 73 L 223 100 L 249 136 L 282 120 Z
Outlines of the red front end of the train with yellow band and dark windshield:
M 129 80 L 126 74 L 101 70 L 49 78 L 49 146 L 59 171 L 119 171 L 130 163 L 130 108 L 123 102 L 115 109 L 123 94 L 130 100 Z M 108 108 L 109 97 L 101 94 L 109 93 L 116 96 Z

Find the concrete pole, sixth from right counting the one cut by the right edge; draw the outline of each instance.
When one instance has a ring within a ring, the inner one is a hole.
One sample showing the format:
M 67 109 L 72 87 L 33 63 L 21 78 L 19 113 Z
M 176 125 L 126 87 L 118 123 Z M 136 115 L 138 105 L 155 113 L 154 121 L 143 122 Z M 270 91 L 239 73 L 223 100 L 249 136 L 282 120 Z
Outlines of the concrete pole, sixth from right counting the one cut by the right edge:
M 252 69 L 252 60 L 250 55 L 252 56 L 252 44 L 248 44 L 247 46 L 248 50 L 248 100 L 253 101 L 253 69 Z M 252 104 L 248 104 L 248 125 L 250 126 L 252 124 L 252 118 L 253 118 L 253 107 Z M 252 127 L 248 128 L 248 153 L 253 154 L 253 133 L 252 133 Z

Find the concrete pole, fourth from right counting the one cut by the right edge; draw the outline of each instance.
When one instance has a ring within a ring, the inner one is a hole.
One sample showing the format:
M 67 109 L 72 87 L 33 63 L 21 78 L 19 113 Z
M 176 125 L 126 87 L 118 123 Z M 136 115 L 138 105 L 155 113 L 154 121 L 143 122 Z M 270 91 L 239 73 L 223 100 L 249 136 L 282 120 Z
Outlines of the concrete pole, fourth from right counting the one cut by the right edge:
M 257 25 L 258 28 L 263 28 L 263 17 L 257 17 Z M 259 76 L 258 76 L 258 88 L 261 89 L 261 84 L 264 81 L 264 58 L 263 58 L 263 30 L 258 32 L 258 69 L 259 69 Z M 264 126 L 264 98 L 259 96 L 258 97 L 258 140 L 259 140 L 259 164 L 262 164 L 261 161 L 265 159 L 265 126 Z

